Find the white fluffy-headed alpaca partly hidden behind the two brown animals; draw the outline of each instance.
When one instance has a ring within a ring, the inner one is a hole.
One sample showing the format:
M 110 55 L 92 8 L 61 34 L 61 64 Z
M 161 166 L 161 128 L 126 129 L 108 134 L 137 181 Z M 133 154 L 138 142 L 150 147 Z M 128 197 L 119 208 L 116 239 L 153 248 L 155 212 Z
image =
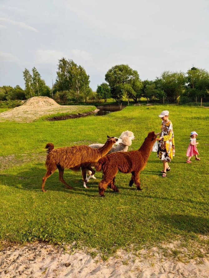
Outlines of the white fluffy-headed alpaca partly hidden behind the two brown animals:
M 126 130 L 121 133 L 119 138 L 123 140 L 123 143 L 120 143 L 119 145 L 116 145 L 116 146 L 113 145 L 113 147 L 110 149 L 109 153 L 127 152 L 129 146 L 132 144 L 132 140 L 135 139 L 135 136 L 134 136 L 133 132 Z M 91 148 L 101 148 L 103 146 L 104 146 L 104 144 L 99 144 L 99 143 L 89 145 L 89 147 L 91 147 Z M 89 171 L 89 174 L 91 174 L 91 171 Z M 96 177 L 94 175 L 92 176 L 92 178 L 96 179 Z

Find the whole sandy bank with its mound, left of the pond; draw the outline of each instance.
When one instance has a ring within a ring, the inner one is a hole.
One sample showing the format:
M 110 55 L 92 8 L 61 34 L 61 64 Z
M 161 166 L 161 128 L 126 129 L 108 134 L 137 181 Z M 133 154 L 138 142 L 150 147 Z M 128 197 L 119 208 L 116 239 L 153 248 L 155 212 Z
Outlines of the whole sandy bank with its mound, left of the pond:
M 0 113 L 1 121 L 32 122 L 44 115 L 66 113 L 75 114 L 84 106 L 59 105 L 49 97 L 32 97 L 21 106 Z

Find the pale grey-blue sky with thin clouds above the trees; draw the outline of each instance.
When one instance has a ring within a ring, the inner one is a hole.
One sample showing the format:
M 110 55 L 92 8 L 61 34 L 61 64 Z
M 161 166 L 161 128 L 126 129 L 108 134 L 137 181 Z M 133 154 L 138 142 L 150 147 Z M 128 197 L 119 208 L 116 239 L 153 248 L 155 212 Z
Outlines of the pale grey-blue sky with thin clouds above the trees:
M 36 67 L 50 86 L 64 57 L 105 82 L 128 64 L 142 80 L 163 71 L 209 71 L 208 0 L 0 0 L 0 86 L 25 88 Z

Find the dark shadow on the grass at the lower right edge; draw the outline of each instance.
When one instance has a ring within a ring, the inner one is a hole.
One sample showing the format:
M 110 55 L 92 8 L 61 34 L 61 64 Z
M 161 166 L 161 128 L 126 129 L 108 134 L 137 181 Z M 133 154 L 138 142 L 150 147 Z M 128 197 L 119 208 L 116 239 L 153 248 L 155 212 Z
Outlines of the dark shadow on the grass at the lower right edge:
M 178 230 L 183 230 L 189 233 L 209 233 L 209 221 L 202 216 L 168 214 L 160 215 L 158 220 L 164 222 L 166 225 L 170 225 Z

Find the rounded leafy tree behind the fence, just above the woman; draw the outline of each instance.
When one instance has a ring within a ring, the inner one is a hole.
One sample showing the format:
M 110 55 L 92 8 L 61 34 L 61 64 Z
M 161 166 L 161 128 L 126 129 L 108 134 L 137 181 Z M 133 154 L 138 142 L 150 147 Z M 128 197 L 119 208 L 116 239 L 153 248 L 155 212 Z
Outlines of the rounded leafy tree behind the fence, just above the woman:
M 185 91 L 186 76 L 183 72 L 164 71 L 161 74 L 161 82 L 166 96 L 177 99 Z

